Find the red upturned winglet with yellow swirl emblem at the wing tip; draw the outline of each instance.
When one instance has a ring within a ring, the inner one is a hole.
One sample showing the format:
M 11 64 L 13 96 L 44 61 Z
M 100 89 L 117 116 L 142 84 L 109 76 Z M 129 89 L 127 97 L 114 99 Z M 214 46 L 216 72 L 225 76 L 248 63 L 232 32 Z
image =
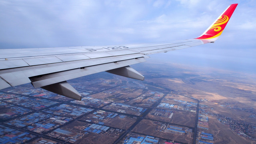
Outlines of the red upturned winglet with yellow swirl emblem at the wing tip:
M 215 20 L 212 25 L 198 38 L 200 40 L 207 40 L 208 42 L 214 42 L 223 32 L 225 26 L 228 24 L 228 20 L 232 16 L 236 6 L 238 4 L 231 4 L 228 8 Z

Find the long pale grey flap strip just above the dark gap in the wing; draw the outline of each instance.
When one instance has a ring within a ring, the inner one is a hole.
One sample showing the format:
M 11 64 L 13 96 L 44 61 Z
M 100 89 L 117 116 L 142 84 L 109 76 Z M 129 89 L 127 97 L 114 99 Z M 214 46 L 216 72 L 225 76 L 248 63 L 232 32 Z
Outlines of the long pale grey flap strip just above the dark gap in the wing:
M 20 84 L 26 84 L 31 82 L 29 78 L 33 76 L 40 76 L 44 74 L 51 74 L 51 73 L 62 72 L 66 70 L 73 70 L 77 68 L 80 69 L 88 66 L 95 66 L 95 65 L 118 62 L 118 61 L 128 60 L 128 59 L 135 59 L 140 57 L 146 58 L 147 56 L 143 54 L 129 54 L 129 55 L 122 55 L 122 56 L 77 60 L 77 61 L 71 61 L 71 62 L 61 62 L 61 63 L 54 63 L 54 64 L 22 67 L 22 68 L 12 68 L 12 69 L 1 70 L 0 76 L 4 80 L 6 80 L 6 82 L 8 82 L 11 86 L 18 86 Z M 62 81 L 65 81 L 65 80 L 62 80 Z

